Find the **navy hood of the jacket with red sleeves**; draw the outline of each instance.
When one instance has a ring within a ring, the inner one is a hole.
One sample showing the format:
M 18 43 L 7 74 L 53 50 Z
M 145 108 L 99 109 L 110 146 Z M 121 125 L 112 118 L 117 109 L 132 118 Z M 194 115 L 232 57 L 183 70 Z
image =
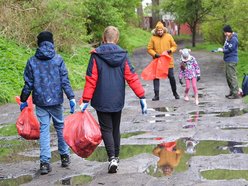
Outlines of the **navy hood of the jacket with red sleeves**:
M 102 44 L 93 53 L 112 67 L 120 66 L 127 58 L 127 51 L 112 43 Z

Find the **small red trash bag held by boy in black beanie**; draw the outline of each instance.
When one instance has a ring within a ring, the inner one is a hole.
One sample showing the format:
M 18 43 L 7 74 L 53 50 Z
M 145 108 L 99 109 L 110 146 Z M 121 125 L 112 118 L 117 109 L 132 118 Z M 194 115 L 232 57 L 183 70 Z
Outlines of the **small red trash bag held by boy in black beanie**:
M 21 100 L 16 96 L 16 102 L 20 105 Z M 28 106 L 25 107 L 16 121 L 18 134 L 26 140 L 37 140 L 40 138 L 40 123 L 34 114 L 32 97 L 27 100 Z

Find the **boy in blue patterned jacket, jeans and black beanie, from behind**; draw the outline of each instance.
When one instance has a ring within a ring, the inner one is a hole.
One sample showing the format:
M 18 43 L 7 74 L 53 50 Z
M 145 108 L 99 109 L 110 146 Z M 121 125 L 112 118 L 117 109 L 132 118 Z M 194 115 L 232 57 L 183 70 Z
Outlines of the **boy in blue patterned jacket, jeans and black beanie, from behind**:
M 43 31 L 37 36 L 38 48 L 25 67 L 25 85 L 21 92 L 21 111 L 27 106 L 32 93 L 36 115 L 40 123 L 40 173 L 51 171 L 50 119 L 52 118 L 58 137 L 58 151 L 62 167 L 70 163 L 69 147 L 63 138 L 63 91 L 70 100 L 73 113 L 76 102 L 68 78 L 68 71 L 60 55 L 55 52 L 53 34 Z

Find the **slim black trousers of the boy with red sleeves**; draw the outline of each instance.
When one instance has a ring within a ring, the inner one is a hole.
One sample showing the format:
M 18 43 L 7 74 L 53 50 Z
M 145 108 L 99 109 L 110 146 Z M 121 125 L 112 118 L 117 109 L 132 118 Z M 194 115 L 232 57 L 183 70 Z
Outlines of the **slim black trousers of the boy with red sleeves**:
M 109 159 L 113 156 L 119 157 L 121 111 L 97 111 L 97 116 L 101 127 L 102 139 Z

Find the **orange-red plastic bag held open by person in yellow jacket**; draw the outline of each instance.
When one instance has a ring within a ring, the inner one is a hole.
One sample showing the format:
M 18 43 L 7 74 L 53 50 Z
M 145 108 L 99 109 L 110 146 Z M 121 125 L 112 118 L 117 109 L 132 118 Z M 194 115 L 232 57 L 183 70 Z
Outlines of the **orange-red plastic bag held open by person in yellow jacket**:
M 171 57 L 164 52 L 161 57 L 154 59 L 142 71 L 141 78 L 144 80 L 166 79 L 168 77 Z

